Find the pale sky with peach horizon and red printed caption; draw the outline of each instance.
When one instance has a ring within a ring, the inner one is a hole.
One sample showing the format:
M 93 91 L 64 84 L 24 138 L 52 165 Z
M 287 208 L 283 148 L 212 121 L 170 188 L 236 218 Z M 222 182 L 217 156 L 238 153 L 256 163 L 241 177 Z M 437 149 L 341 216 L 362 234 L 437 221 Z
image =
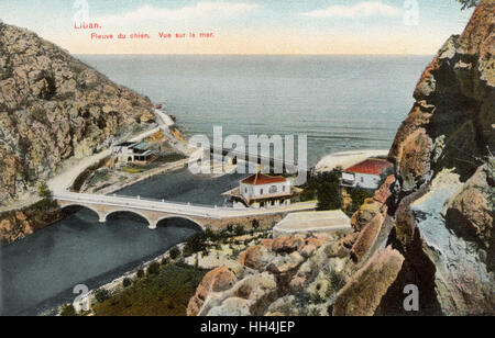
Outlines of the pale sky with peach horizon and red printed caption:
M 455 0 L 0 0 L 0 20 L 73 54 L 431 55 L 471 14 Z

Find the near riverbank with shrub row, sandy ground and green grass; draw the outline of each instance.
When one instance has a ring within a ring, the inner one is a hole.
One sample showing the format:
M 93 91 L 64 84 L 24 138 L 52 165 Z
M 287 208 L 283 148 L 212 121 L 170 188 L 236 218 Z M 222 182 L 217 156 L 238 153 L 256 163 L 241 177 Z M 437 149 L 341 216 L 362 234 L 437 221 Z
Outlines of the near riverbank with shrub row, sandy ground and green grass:
M 89 291 L 80 302 L 58 306 L 46 314 L 186 315 L 189 300 L 208 271 L 222 266 L 239 270 L 239 254 L 271 234 L 270 229 L 241 227 L 207 233 L 209 235 L 193 236 L 110 283 Z M 205 239 L 205 243 L 198 244 L 196 238 Z

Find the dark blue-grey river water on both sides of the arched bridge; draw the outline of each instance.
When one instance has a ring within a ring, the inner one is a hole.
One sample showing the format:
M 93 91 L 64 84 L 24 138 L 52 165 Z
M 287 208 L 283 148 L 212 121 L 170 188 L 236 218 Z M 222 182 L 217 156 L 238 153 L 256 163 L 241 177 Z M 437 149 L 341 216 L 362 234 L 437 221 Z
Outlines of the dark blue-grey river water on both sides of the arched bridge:
M 221 193 L 237 185 L 238 174 L 193 176 L 187 169 L 161 174 L 119 194 L 222 205 Z M 0 314 L 33 315 L 72 301 L 73 289 L 110 282 L 165 252 L 199 228 L 172 218 L 156 230 L 131 213 L 111 215 L 106 224 L 87 209 L 0 249 Z

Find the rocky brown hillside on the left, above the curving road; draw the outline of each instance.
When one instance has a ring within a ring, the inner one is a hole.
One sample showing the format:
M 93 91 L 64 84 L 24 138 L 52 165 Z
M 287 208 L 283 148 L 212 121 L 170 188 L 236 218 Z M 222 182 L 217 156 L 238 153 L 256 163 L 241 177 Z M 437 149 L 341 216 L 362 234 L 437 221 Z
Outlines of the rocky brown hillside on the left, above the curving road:
M 0 23 L 0 206 L 67 159 L 145 128 L 151 108 L 36 34 Z

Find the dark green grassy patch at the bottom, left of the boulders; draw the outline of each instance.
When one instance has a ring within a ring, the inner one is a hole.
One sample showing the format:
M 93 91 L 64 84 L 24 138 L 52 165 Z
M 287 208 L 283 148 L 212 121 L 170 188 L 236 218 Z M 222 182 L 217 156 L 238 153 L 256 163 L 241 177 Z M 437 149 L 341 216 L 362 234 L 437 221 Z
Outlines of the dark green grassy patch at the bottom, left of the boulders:
M 178 263 L 161 267 L 158 273 L 95 306 L 97 316 L 184 316 L 196 288 L 207 273 Z

